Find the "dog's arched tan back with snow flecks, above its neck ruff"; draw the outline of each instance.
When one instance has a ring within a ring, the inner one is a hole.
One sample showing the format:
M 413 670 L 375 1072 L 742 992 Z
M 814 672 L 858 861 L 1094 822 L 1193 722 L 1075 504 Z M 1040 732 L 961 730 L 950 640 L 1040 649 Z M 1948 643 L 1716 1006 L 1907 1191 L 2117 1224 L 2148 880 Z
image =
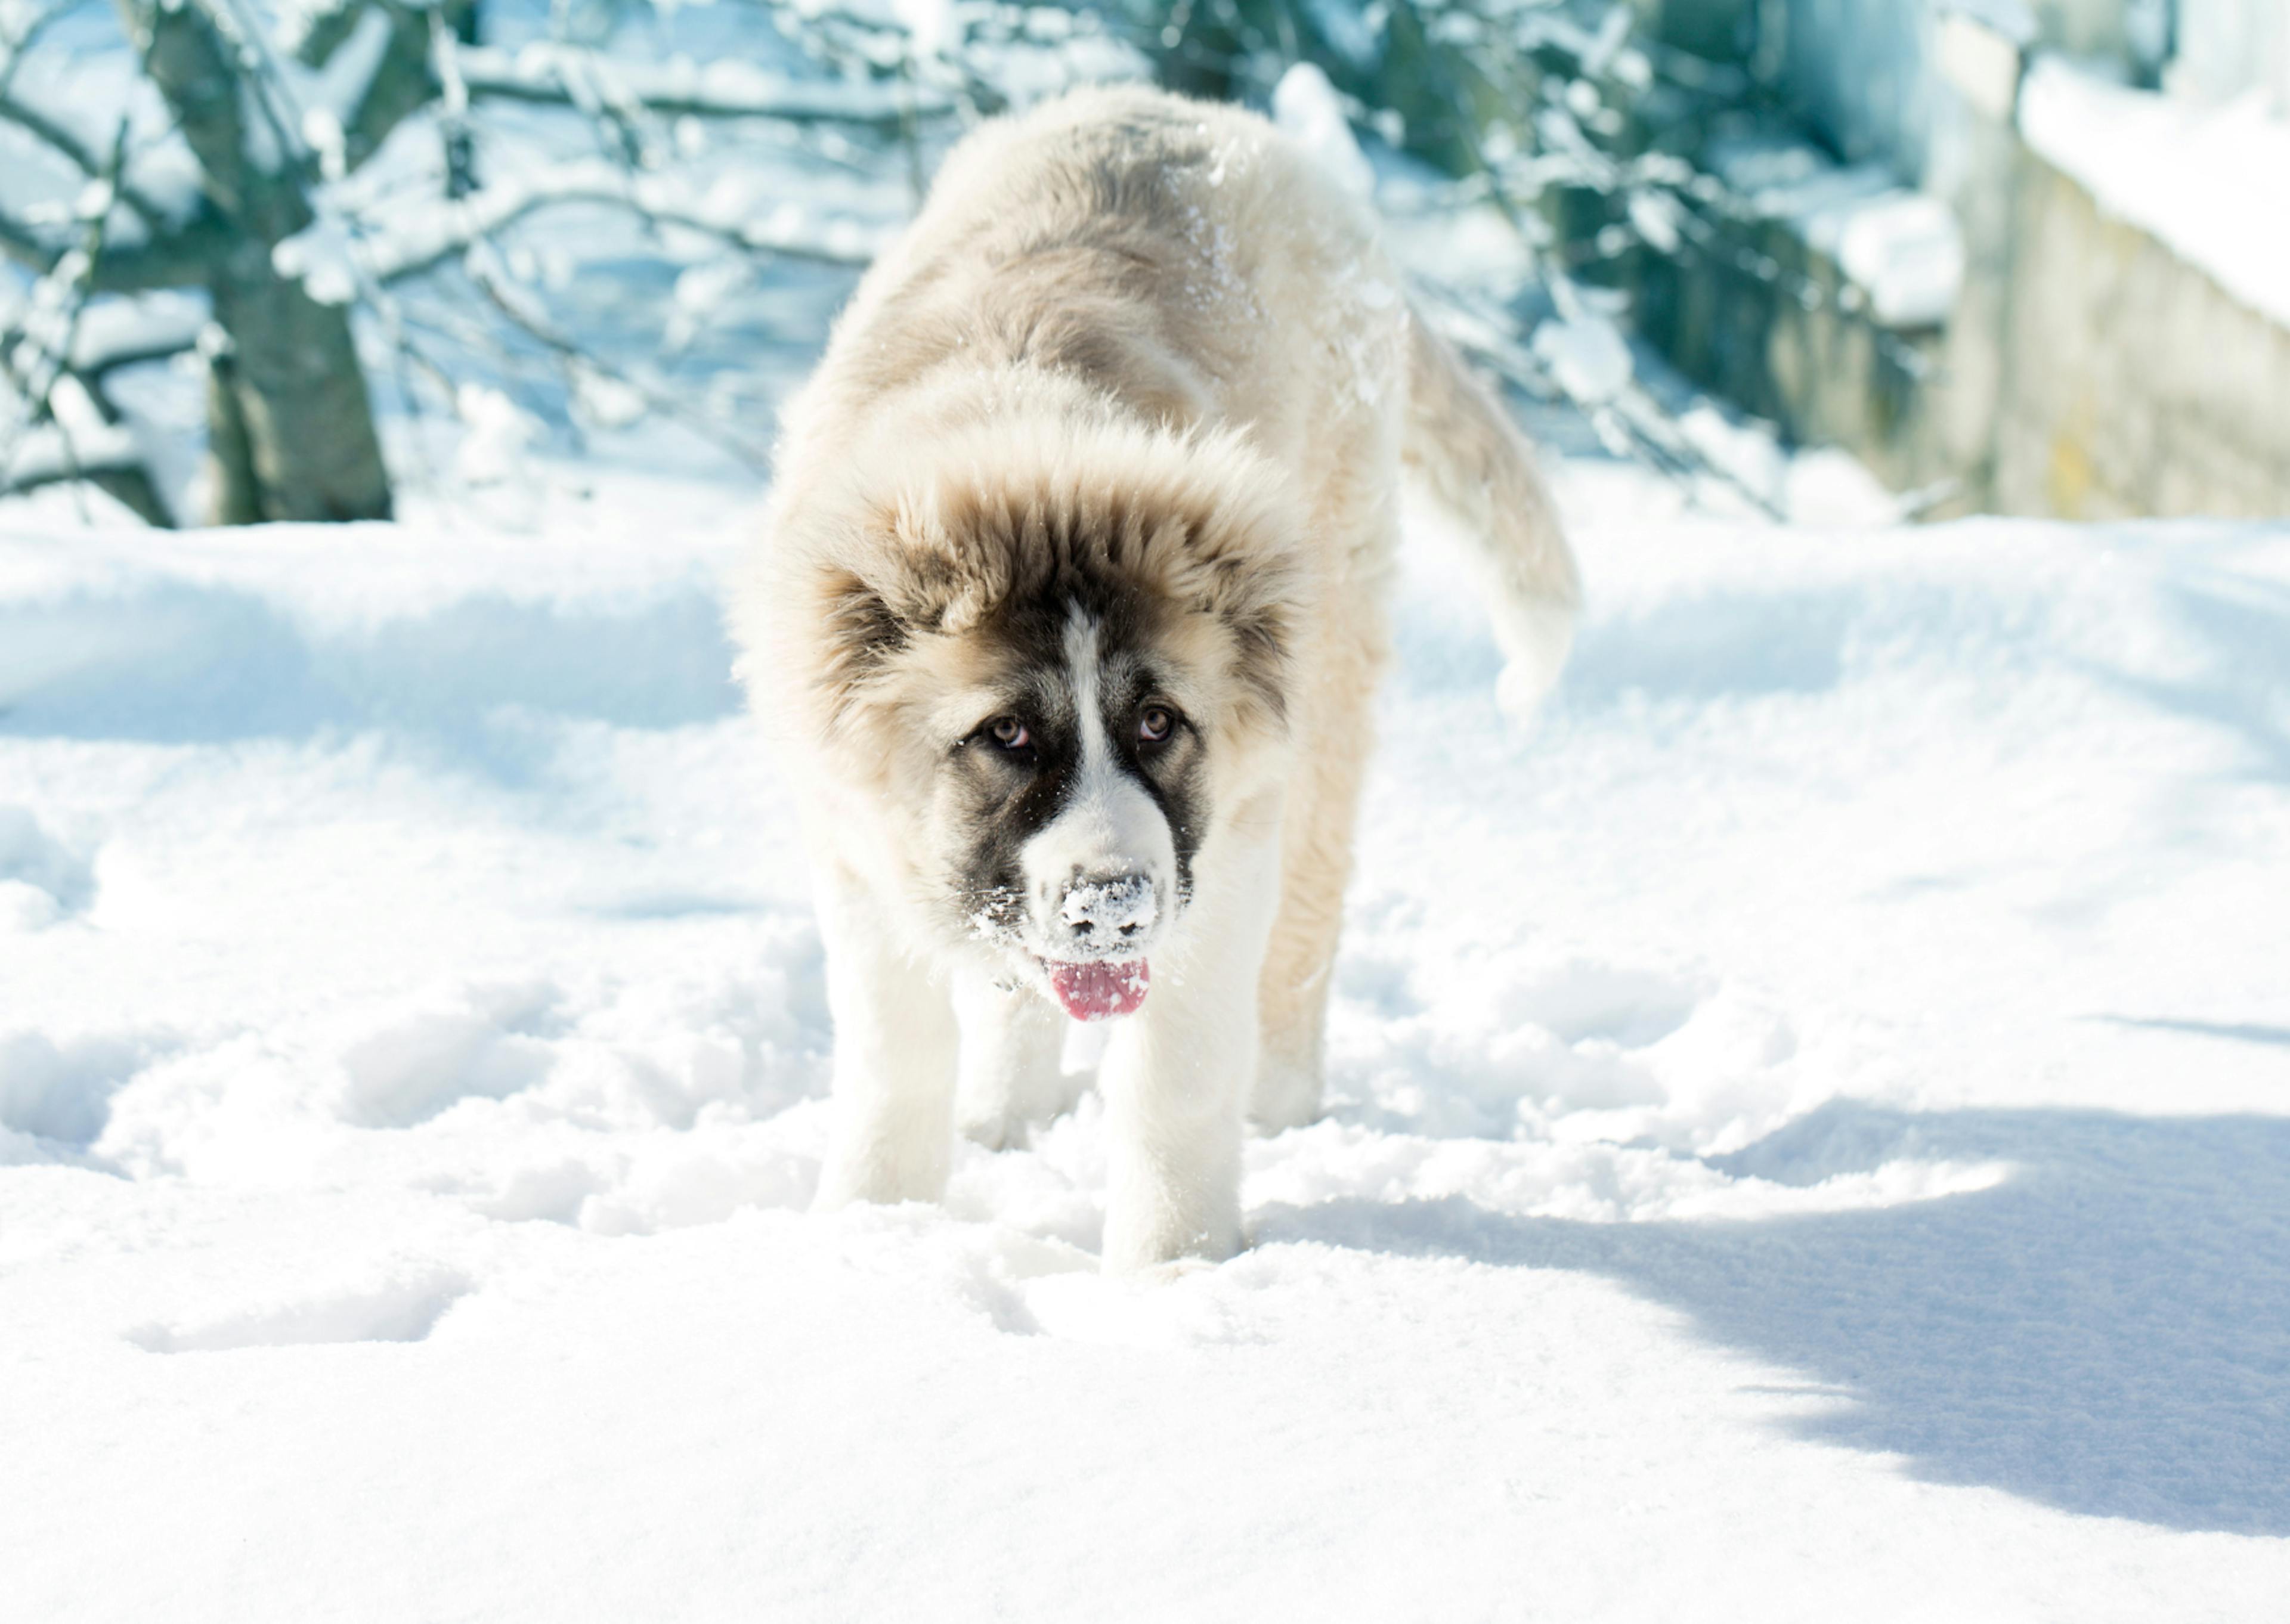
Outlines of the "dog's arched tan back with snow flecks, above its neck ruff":
M 783 465 L 866 442 L 891 401 L 941 428 L 998 410 L 982 380 L 1010 373 L 1246 428 L 1310 497 L 1397 449 L 1406 309 L 1372 215 L 1269 124 L 1095 89 L 955 149 L 838 321 Z

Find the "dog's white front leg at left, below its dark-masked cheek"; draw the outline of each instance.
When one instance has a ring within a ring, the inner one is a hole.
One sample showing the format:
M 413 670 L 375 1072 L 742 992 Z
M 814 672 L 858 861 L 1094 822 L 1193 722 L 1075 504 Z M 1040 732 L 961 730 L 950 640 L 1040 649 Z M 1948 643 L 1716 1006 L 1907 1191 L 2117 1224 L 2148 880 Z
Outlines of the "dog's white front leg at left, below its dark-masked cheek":
M 955 1015 L 882 902 L 850 870 L 820 877 L 834 1127 L 818 1207 L 939 1200 L 953 1159 Z

